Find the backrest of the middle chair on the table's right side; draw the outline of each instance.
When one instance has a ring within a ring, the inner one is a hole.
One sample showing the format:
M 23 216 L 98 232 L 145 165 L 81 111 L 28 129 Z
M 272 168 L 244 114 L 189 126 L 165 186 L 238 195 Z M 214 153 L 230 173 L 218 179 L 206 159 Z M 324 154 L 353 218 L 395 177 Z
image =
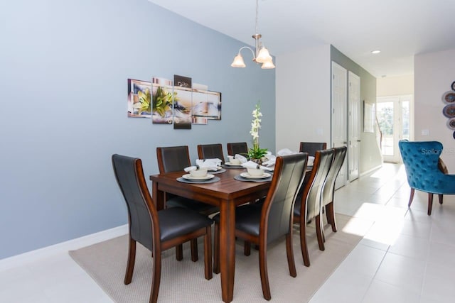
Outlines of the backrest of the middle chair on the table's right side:
M 323 185 L 326 182 L 332 162 L 333 149 L 316 151 L 313 169 L 308 181 L 304 184 L 301 195 L 301 216 L 306 216 L 304 221 L 301 220 L 301 224 L 320 214 Z

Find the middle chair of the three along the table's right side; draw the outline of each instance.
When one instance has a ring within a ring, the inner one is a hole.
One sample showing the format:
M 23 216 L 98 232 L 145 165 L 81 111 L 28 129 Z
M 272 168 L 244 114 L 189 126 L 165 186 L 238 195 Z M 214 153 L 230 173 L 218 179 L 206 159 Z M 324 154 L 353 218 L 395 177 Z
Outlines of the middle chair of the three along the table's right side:
M 324 250 L 321 220 L 321 195 L 323 185 L 333 160 L 333 150 L 317 150 L 314 157 L 313 169 L 299 192 L 294 207 L 294 223 L 300 224 L 300 247 L 304 265 L 310 265 L 308 247 L 306 245 L 306 223 L 316 219 L 316 236 L 319 249 Z

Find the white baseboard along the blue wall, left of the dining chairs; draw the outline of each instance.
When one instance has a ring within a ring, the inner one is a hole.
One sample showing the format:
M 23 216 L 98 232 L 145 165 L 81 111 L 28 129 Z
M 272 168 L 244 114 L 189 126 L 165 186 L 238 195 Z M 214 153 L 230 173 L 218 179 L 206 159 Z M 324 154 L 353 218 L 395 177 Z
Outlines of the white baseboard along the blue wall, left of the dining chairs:
M 24 263 L 33 262 L 40 258 L 55 255 L 55 253 L 63 253 L 68 252 L 68 250 L 75 250 L 85 246 L 90 246 L 111 238 L 123 236 L 126 233 L 128 233 L 128 224 L 100 231 L 98 233 L 92 233 L 87 236 L 82 236 L 80 238 L 75 238 L 73 240 L 65 241 L 52 246 L 31 250 L 27 253 L 21 253 L 20 255 L 13 255 L 12 257 L 0 260 L 0 270 L 6 270 L 18 265 L 23 265 Z

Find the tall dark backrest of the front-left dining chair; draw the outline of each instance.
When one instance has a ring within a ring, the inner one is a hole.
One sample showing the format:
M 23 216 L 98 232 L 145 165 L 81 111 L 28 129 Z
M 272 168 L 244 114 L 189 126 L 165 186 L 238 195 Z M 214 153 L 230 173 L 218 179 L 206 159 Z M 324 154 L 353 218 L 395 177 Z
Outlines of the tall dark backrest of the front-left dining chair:
M 151 199 L 139 158 L 112 155 L 114 175 L 128 208 L 129 235 L 149 250 L 159 240 L 158 213 Z M 152 237 L 155 234 L 156 236 Z

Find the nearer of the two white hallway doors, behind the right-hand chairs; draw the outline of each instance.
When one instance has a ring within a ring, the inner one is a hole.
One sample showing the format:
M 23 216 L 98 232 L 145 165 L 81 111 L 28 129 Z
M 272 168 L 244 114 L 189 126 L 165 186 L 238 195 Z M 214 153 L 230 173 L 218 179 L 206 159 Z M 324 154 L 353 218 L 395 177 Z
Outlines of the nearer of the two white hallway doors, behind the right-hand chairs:
M 347 106 L 348 106 L 348 72 L 346 68 L 332 61 L 332 147 L 348 144 Z M 335 187 L 339 188 L 348 180 L 347 165 L 344 162 L 336 179 Z

